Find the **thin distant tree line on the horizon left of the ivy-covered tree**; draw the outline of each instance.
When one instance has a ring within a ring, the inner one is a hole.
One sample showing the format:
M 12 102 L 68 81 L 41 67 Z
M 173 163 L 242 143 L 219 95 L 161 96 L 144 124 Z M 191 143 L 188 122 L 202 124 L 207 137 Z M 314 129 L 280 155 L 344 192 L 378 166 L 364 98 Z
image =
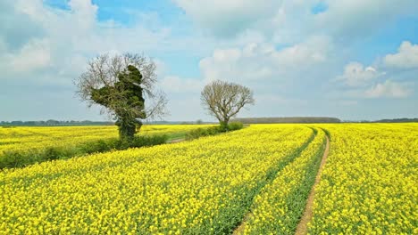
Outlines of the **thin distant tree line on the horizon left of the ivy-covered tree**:
M 114 125 L 113 122 L 99 122 L 99 121 L 58 121 L 54 119 L 46 121 L 0 121 L 0 126 L 105 126 Z

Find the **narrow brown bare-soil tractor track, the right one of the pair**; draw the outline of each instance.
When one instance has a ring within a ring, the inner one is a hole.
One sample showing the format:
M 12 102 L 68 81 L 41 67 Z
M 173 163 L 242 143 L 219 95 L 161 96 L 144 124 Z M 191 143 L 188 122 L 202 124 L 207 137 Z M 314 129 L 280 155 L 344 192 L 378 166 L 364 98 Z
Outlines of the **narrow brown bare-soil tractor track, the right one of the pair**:
M 309 193 L 308 199 L 306 200 L 306 206 L 305 206 L 304 214 L 302 215 L 302 218 L 300 219 L 299 223 L 297 224 L 297 230 L 295 231 L 296 235 L 307 234 L 307 224 L 312 219 L 315 188 L 317 187 L 318 183 L 321 181 L 322 170 L 323 170 L 323 167 L 325 166 L 325 163 L 327 161 L 328 153 L 330 152 L 330 138 L 328 136 L 326 136 L 326 138 L 327 138 L 327 145 L 325 147 L 325 150 L 323 151 L 321 165 L 318 169 L 318 173 L 316 174 L 315 182 L 314 182 L 314 185 L 312 186 L 312 190 Z

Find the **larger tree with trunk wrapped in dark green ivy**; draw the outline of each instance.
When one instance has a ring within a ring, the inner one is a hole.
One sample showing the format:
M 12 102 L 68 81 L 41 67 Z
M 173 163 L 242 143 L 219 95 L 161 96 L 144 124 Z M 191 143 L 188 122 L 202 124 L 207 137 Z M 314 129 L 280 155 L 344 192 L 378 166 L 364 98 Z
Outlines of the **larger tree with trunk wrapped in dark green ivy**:
M 163 118 L 167 100 L 155 90 L 155 63 L 139 55 L 100 55 L 88 62 L 88 69 L 75 84 L 89 106 L 99 104 L 102 112 L 116 120 L 121 139 L 131 139 L 142 119 Z

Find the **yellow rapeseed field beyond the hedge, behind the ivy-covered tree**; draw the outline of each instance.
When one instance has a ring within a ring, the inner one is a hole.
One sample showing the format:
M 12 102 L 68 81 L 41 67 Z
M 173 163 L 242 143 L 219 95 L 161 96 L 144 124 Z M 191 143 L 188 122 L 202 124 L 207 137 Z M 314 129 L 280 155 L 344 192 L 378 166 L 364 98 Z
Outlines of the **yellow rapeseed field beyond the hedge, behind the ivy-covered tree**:
M 138 136 L 164 134 L 170 141 L 184 137 L 190 130 L 207 126 L 210 125 L 149 125 L 143 126 Z M 25 165 L 45 161 L 48 151 L 69 155 L 63 158 L 84 154 L 89 146 L 117 138 L 117 126 L 0 127 L 0 168 L 13 166 L 13 161 L 16 164 L 24 162 L 21 158 L 32 158 Z

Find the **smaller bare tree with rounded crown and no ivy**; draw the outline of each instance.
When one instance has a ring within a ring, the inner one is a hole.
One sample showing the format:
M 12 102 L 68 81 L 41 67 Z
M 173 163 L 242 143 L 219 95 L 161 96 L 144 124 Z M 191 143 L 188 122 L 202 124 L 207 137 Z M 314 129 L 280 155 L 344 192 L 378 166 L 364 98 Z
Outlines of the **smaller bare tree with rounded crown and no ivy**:
M 230 118 L 236 116 L 240 109 L 255 103 L 253 92 L 248 87 L 220 80 L 205 85 L 201 101 L 223 128 L 227 128 Z

